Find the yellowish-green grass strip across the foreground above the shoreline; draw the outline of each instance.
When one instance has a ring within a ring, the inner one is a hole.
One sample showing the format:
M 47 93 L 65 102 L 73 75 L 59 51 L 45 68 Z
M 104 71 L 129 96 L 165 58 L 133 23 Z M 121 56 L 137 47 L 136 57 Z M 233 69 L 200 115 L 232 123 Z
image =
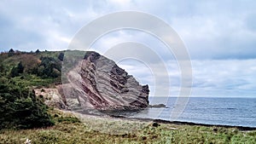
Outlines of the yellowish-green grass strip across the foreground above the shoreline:
M 154 124 L 118 118 L 78 118 L 55 112 L 55 126 L 2 130 L 0 143 L 256 143 L 256 131 L 177 124 Z M 129 131 L 130 130 L 130 131 Z

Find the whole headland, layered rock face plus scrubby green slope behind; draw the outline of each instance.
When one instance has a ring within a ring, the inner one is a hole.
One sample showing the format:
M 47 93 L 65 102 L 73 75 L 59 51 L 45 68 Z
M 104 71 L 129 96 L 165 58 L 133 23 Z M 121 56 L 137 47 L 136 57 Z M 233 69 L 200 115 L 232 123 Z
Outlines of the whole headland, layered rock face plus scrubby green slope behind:
M 10 84 L 32 87 L 50 107 L 79 111 L 148 107 L 148 85 L 138 84 L 113 60 L 96 52 L 84 53 L 10 50 L 0 54 L 0 76 Z

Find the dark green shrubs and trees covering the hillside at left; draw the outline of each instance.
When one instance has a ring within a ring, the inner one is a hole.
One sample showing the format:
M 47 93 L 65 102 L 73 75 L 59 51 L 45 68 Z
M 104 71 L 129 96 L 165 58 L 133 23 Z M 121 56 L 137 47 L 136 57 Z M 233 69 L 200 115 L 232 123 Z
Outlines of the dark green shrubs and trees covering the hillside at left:
M 49 107 L 32 86 L 61 83 L 62 52 L 20 52 L 0 55 L 0 129 L 30 129 L 54 124 Z M 61 59 L 61 60 L 60 60 Z

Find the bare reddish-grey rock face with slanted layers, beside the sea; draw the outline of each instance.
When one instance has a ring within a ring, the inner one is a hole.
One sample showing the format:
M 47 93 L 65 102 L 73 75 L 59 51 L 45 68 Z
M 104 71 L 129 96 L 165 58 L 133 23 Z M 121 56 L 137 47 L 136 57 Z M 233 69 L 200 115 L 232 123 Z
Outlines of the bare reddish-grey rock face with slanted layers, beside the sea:
M 62 95 L 73 110 L 137 110 L 148 107 L 148 85 L 140 85 L 113 60 L 86 52 L 84 60 L 67 72 Z

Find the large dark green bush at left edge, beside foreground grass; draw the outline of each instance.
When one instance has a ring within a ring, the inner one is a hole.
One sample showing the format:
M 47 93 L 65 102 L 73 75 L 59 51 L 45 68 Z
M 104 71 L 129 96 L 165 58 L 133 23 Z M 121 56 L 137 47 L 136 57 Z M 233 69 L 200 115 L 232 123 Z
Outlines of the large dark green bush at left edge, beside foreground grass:
M 0 129 L 31 129 L 54 124 L 48 107 L 34 91 L 9 84 L 4 78 L 0 78 L 0 115 Z

